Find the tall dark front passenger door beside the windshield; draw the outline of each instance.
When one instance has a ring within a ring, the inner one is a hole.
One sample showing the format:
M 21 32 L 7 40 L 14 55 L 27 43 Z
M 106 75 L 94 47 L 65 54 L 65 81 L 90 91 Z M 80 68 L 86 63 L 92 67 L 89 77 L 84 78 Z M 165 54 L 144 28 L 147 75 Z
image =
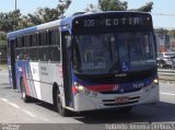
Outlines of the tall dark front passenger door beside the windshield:
M 73 107 L 72 76 L 71 76 L 71 38 L 62 33 L 62 70 L 66 106 Z

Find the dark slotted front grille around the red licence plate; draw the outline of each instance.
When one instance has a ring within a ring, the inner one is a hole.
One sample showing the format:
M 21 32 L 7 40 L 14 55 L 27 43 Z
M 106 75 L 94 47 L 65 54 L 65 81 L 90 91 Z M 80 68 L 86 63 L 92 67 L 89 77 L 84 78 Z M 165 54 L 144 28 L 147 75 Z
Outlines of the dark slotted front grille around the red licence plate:
M 103 99 L 103 104 L 105 106 L 119 106 L 119 105 L 130 105 L 130 104 L 136 104 L 138 103 L 140 99 L 140 96 L 133 96 L 133 97 L 129 97 L 128 101 L 126 103 L 116 103 L 115 99 Z

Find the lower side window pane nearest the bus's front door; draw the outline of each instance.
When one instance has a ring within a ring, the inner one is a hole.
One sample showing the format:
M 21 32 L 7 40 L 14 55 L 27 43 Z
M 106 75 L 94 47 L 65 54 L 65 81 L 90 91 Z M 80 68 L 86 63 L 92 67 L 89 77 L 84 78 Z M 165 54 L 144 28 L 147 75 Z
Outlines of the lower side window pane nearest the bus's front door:
M 58 47 L 49 47 L 48 49 L 50 61 L 60 62 L 60 49 Z

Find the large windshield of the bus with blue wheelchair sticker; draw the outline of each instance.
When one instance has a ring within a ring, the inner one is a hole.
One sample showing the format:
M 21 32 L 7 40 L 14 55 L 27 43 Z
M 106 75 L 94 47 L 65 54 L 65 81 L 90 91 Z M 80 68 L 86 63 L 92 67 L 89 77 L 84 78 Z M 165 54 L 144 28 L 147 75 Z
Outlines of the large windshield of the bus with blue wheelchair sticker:
M 124 73 L 156 66 L 152 32 L 83 34 L 74 39 L 79 73 Z

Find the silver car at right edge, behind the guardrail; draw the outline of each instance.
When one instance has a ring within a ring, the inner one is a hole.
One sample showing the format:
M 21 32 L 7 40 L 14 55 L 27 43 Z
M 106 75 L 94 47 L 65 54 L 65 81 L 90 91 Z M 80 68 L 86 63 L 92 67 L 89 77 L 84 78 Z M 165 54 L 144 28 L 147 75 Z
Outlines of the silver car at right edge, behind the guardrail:
M 159 52 L 156 57 L 158 67 L 172 67 L 175 66 L 175 52 Z

